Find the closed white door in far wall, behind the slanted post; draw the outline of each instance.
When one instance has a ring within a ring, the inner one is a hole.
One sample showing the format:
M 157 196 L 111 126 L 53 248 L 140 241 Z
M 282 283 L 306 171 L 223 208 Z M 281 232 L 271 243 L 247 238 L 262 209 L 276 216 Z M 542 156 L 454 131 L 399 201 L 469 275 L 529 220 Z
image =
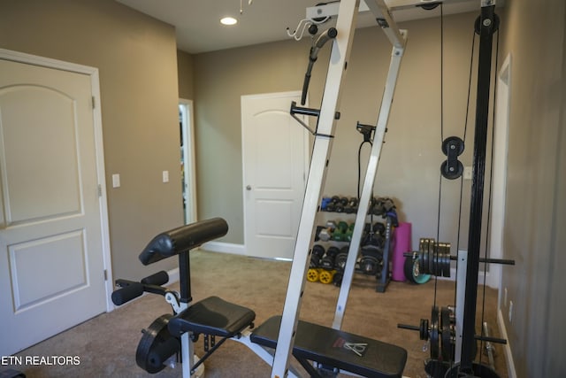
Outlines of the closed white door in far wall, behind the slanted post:
M 309 134 L 289 114 L 300 92 L 241 96 L 246 253 L 293 258 Z

